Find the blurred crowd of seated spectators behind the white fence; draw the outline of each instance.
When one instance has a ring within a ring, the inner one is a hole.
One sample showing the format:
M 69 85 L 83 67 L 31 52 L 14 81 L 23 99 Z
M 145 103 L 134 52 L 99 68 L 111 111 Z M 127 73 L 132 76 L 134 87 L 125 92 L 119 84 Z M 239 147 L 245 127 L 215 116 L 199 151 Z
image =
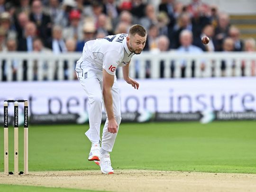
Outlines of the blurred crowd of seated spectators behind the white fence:
M 256 50 L 255 39 L 242 40 L 227 13 L 201 0 L 0 0 L 0 51 L 82 52 L 86 41 L 128 33 L 133 24 L 148 32 L 146 51 Z

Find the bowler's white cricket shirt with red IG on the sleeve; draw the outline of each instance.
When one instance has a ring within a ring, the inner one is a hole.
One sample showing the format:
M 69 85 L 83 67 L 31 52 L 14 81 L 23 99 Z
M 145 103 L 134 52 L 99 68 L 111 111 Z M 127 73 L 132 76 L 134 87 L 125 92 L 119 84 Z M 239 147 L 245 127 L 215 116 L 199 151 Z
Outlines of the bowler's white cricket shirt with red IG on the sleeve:
M 109 74 L 114 75 L 116 68 L 128 64 L 134 55 L 128 49 L 127 36 L 128 34 L 117 34 L 87 41 L 80 61 L 96 69 L 105 69 Z

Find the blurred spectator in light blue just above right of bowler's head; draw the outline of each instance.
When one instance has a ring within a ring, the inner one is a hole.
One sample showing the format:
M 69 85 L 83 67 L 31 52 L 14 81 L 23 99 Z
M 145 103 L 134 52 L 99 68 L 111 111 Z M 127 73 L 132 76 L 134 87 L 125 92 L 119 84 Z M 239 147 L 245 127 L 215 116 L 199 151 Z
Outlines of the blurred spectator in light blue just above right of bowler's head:
M 146 30 L 148 30 L 152 24 L 157 24 L 155 7 L 152 4 L 146 5 L 145 17 L 141 18 L 139 22 L 141 25 L 143 25 L 143 27 L 145 27 Z

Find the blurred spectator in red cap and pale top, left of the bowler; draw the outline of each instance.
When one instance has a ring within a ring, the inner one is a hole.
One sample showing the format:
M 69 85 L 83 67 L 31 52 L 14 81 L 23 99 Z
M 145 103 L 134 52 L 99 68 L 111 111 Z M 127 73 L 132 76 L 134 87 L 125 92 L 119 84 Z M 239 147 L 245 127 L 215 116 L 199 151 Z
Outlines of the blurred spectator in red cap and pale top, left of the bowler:
M 70 26 L 65 27 L 63 30 L 63 38 L 74 38 L 76 40 L 82 40 L 82 20 L 81 13 L 78 10 L 72 10 L 69 13 Z

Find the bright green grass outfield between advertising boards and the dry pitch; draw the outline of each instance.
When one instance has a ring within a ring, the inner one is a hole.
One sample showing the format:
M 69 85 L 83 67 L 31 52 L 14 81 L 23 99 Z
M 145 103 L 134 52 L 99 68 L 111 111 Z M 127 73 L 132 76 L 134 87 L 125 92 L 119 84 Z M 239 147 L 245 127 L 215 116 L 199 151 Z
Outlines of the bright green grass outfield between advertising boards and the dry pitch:
M 29 171 L 92 170 L 87 160 L 88 125 L 29 128 Z M 0 128 L 3 154 L 3 128 Z M 3 172 L 3 156 L 0 171 Z M 23 170 L 23 128 L 19 129 Z M 122 123 L 111 161 L 114 169 L 149 169 L 256 174 L 256 121 Z M 9 128 L 9 170 L 13 171 L 13 128 Z M 99 170 L 100 171 L 100 170 Z

